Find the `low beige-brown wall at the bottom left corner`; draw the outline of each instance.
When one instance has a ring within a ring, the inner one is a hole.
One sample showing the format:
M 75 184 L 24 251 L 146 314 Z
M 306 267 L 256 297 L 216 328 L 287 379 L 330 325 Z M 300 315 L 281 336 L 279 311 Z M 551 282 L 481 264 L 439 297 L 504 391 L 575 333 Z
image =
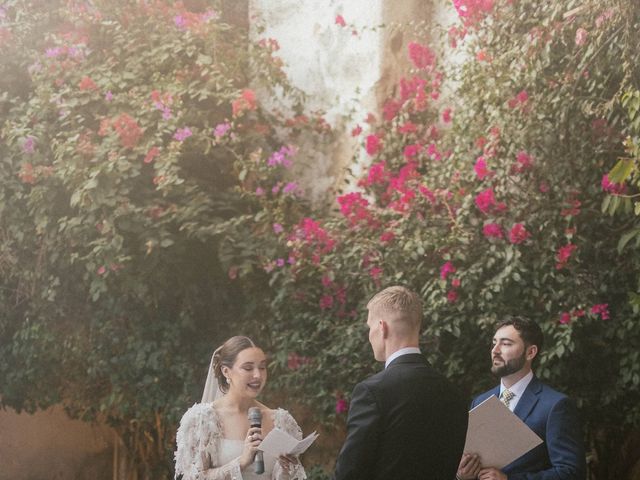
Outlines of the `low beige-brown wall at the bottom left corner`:
M 71 420 L 61 407 L 0 410 L 0 480 L 113 478 L 113 432 Z

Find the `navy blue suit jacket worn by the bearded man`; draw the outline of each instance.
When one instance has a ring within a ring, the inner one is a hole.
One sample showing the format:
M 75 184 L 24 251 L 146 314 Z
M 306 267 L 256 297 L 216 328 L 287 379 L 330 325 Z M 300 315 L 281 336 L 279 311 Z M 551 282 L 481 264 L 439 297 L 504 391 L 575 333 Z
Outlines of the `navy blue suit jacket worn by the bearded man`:
M 479 395 L 471 407 L 491 395 L 500 395 L 500 386 Z M 564 394 L 545 385 L 535 376 L 513 412 L 544 442 L 504 467 L 509 480 L 584 480 L 586 459 L 578 412 Z

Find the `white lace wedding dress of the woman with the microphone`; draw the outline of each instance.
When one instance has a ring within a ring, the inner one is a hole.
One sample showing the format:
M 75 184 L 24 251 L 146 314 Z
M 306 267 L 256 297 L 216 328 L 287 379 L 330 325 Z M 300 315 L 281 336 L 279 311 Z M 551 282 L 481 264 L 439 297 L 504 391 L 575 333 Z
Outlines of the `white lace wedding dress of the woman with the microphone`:
M 273 425 L 302 439 L 302 430 L 289 412 L 273 410 Z M 307 476 L 302 464 L 285 471 L 273 457 L 265 456 L 265 472 L 256 475 L 252 467 L 242 472 L 238 457 L 242 441 L 222 437 L 220 413 L 212 403 L 196 403 L 180 420 L 176 437 L 176 478 L 182 480 L 303 480 Z

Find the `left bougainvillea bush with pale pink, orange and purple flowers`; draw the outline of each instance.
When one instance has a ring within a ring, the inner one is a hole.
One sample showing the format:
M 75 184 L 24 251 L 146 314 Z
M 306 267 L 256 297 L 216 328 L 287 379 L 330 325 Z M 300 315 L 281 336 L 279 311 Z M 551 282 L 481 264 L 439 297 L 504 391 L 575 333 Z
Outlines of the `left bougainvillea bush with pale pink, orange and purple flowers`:
M 292 113 L 277 42 L 223 15 L 208 1 L 0 7 L 2 404 L 107 421 L 137 478 L 169 475 L 209 355 L 258 318 L 219 259 L 226 225 L 259 210 L 240 185 L 296 208 L 296 137 L 325 131 Z M 257 98 L 276 89 L 287 114 Z

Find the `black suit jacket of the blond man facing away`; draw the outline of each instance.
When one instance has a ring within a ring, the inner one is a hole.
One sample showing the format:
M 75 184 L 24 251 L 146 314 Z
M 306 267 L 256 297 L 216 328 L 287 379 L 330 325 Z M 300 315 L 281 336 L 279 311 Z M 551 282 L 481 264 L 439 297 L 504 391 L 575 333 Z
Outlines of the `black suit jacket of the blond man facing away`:
M 335 480 L 452 480 L 467 432 L 464 398 L 420 354 L 356 385 Z

